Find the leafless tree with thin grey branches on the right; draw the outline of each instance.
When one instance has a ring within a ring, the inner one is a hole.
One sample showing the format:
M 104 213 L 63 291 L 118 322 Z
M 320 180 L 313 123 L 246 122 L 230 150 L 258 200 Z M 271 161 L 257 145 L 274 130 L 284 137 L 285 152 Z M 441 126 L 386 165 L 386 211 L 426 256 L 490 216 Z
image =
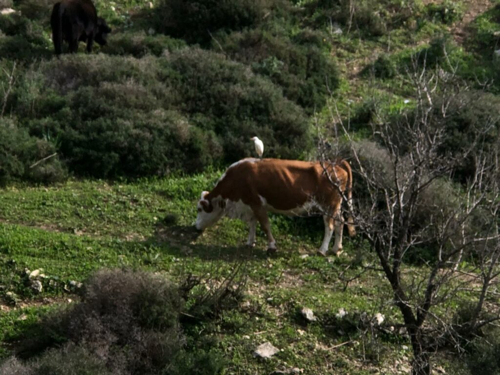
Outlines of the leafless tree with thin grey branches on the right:
M 465 147 L 447 147 L 450 103 L 466 105 L 460 94 L 468 88 L 414 62 L 407 75 L 415 87 L 414 107 L 397 119 L 373 121 L 370 140 L 354 141 L 335 105 L 331 115 L 333 132 L 347 139 L 355 189 L 364 191 L 355 212 L 358 232 L 392 289 L 413 350 L 412 373 L 427 375 L 432 353 L 450 342 L 460 349 L 470 334 L 499 317 L 498 304 L 486 300 L 500 273 L 500 141 L 483 141 L 496 126 L 498 119 L 491 118 Z M 473 163 L 472 171 L 454 188 L 451 177 L 464 162 Z M 408 255 L 423 247 L 432 249 L 432 259 L 408 272 Z M 466 272 L 464 259 L 470 260 Z M 468 300 L 473 296 L 472 312 L 457 323 L 437 307 L 463 300 L 464 291 Z M 493 314 L 483 314 L 486 304 Z

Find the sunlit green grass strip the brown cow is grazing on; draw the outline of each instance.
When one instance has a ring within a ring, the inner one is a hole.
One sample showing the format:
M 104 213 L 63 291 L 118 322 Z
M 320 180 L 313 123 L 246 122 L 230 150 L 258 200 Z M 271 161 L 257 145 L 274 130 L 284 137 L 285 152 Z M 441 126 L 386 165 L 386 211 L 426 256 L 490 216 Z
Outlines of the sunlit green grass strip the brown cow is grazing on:
M 9 355 L 15 338 L 52 308 L 51 301 L 77 299 L 75 281 L 84 282 L 96 269 L 145 269 L 166 272 L 174 280 L 193 273 L 208 282 L 227 277 L 239 264 L 246 275 L 242 302 L 249 304 L 224 311 L 214 324 L 196 325 L 218 339 L 229 360 L 226 373 L 298 367 L 319 374 L 333 363 L 337 373 L 365 374 L 377 368 L 391 373 L 395 353 L 409 356 L 401 352 L 401 345 L 408 346 L 403 336 L 374 337 L 356 328 L 363 312 L 381 312 L 390 324 L 400 322 L 382 271 L 364 271 L 363 265 L 376 259 L 360 238 L 345 236 L 345 254 L 338 258 L 314 256 L 322 237 L 320 220 L 278 215 L 271 225 L 279 250 L 271 257 L 260 230 L 256 247 L 243 246 L 247 229 L 237 220 L 222 219 L 195 237 L 190 228 L 196 199 L 218 175 L 70 180 L 1 190 L 0 297 L 6 312 L 0 312 L 0 356 Z M 38 277 L 40 293 L 31 288 L 26 269 L 44 274 Z M 314 311 L 316 322 L 303 320 L 299 310 L 304 306 Z M 344 320 L 335 318 L 340 308 L 348 312 Z M 252 352 L 265 341 L 282 351 L 261 361 Z

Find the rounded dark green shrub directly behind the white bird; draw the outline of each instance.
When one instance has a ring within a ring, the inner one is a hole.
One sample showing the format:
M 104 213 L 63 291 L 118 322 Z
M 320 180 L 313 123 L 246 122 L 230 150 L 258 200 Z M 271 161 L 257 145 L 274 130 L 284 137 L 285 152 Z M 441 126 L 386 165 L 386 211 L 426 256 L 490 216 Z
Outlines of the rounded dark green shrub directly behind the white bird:
M 169 62 L 177 72 L 172 84 L 181 108 L 199 128 L 221 138 L 224 161 L 247 156 L 254 134 L 264 139 L 268 156 L 296 158 L 309 148 L 303 111 L 245 65 L 196 48 L 172 53 Z

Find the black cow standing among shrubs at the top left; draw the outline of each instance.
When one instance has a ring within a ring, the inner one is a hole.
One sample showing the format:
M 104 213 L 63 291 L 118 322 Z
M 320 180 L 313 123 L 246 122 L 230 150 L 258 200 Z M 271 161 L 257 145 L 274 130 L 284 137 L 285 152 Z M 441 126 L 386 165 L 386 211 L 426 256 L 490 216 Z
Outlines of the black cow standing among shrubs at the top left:
M 87 52 L 91 52 L 93 41 L 104 45 L 107 34 L 111 32 L 104 19 L 97 17 L 91 0 L 62 0 L 55 3 L 50 26 L 56 54 L 62 51 L 62 40 L 69 43 L 70 52 L 78 50 L 79 41 L 86 42 Z

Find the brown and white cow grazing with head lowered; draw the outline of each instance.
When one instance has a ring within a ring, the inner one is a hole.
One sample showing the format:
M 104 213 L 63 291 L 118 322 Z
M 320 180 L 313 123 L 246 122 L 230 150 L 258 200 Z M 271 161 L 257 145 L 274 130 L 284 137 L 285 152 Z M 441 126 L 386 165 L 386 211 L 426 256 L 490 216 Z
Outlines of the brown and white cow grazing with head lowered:
M 257 221 L 267 235 L 267 251 L 276 251 L 267 211 L 291 215 L 318 212 L 323 215 L 324 238 L 318 252 L 325 255 L 333 230 L 333 252 L 342 249 L 343 217 L 340 213 L 343 192 L 352 207 L 352 172 L 345 160 L 311 162 L 281 159 L 246 158 L 233 163 L 212 191 L 203 191 L 197 204 L 196 229 L 213 225 L 220 217 L 239 218 L 249 223 L 247 245 L 255 243 Z M 352 217 L 347 221 L 354 235 Z

